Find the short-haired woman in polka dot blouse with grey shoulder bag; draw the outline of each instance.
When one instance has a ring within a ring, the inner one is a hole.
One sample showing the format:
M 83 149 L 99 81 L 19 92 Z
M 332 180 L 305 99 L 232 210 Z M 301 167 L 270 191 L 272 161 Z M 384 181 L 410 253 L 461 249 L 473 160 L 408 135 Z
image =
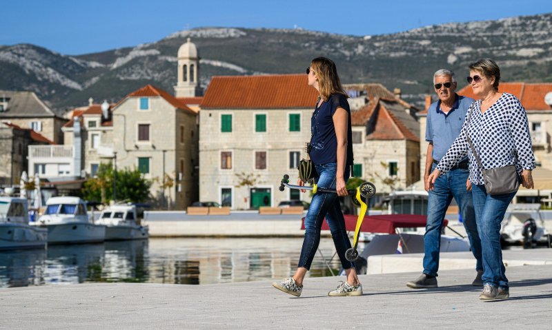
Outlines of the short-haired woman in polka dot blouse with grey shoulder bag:
M 508 279 L 502 262 L 500 223 L 516 192 L 502 195 L 487 194 L 481 168 L 477 164 L 466 139 L 469 134 L 484 169 L 515 165 L 522 185 L 533 188 L 531 170 L 535 156 L 531 145 L 527 115 L 520 100 L 512 94 L 498 92 L 500 68 L 492 59 L 481 59 L 469 65 L 468 83 L 477 96 L 467 114 L 462 132 L 439 165 L 428 177 L 433 188 L 435 179 L 449 171 L 468 154 L 470 178 L 467 189 L 472 189 L 475 220 L 483 251 L 482 300 L 509 298 Z

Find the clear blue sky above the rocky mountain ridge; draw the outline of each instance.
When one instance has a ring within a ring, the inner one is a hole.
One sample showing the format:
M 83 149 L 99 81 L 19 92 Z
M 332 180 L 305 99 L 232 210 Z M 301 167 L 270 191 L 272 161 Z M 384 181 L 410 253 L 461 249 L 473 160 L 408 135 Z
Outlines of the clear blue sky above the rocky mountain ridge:
M 0 45 L 86 54 L 163 39 L 186 28 L 304 28 L 386 34 L 425 25 L 552 12 L 551 0 L 248 1 L 1 0 Z

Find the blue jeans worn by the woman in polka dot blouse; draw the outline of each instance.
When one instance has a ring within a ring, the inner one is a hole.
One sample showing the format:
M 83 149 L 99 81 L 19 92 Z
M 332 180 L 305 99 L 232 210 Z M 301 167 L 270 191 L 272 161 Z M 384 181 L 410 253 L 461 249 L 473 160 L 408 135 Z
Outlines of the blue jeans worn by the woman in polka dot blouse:
M 483 282 L 508 289 L 506 268 L 502 262 L 500 247 L 500 223 L 515 192 L 503 195 L 489 195 L 484 185 L 473 185 L 473 207 L 483 248 Z

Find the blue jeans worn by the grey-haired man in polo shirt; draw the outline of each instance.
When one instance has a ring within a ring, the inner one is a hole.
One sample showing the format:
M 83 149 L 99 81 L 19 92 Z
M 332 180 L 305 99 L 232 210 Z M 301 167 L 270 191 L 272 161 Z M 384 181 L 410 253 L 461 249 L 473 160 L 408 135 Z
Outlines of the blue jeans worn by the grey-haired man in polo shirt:
M 436 165 L 433 164 L 432 172 L 435 167 Z M 481 240 L 477 233 L 473 198 L 471 192 L 466 190 L 468 178 L 469 169 L 456 168 L 437 178 L 435 189 L 429 191 L 426 234 L 424 235 L 424 274 L 437 276 L 443 220 L 453 197 L 460 209 L 471 252 L 476 260 L 475 269 L 483 270 Z

